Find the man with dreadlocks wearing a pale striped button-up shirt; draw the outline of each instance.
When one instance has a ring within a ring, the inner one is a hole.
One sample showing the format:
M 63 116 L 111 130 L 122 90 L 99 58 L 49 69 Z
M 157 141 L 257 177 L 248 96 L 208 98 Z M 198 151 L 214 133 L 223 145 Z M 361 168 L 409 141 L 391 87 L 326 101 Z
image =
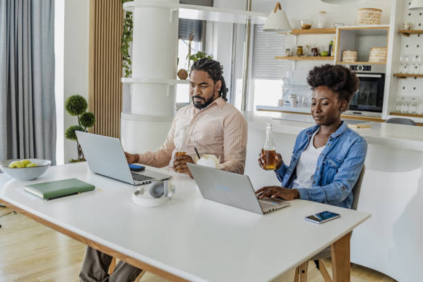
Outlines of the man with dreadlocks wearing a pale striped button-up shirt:
M 125 153 L 129 163 L 169 167 L 192 178 L 187 162 L 194 163 L 195 149 L 200 156 L 220 158 L 219 169 L 243 173 L 247 148 L 247 122 L 243 115 L 226 102 L 227 88 L 222 66 L 213 59 L 199 59 L 191 67 L 189 94 L 192 103 L 176 113 L 166 141 L 157 151 Z M 186 128 L 186 155 L 176 156 L 180 131 Z M 112 257 L 87 247 L 81 281 L 133 281 L 141 272 L 120 261 L 111 276 L 107 273 Z

